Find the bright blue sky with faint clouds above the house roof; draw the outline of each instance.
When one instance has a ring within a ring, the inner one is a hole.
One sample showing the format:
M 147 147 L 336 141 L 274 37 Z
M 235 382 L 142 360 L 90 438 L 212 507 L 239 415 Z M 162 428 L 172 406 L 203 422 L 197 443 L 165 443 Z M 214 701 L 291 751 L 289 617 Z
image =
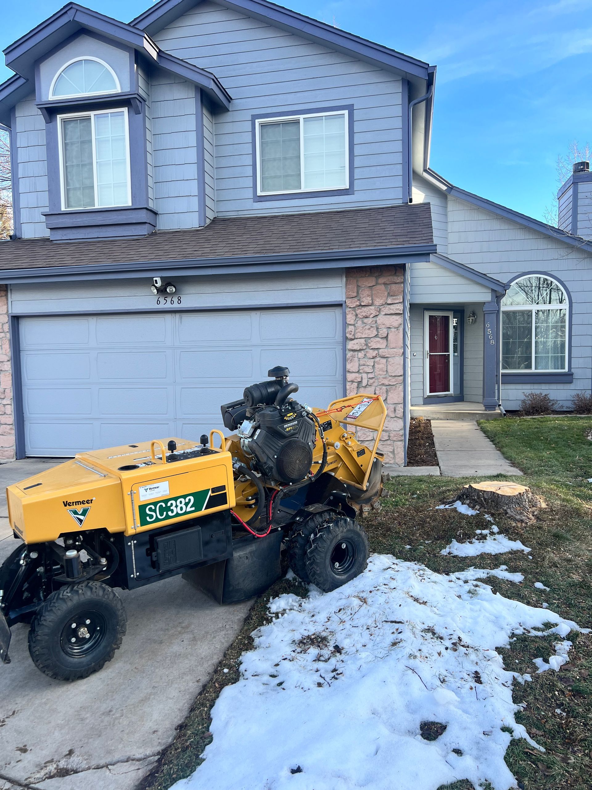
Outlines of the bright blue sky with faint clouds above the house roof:
M 148 4 L 86 3 L 122 21 Z M 592 0 L 284 4 L 438 66 L 431 164 L 466 190 L 542 219 L 557 155 L 592 141 Z M 63 5 L 5 0 L 0 48 Z

